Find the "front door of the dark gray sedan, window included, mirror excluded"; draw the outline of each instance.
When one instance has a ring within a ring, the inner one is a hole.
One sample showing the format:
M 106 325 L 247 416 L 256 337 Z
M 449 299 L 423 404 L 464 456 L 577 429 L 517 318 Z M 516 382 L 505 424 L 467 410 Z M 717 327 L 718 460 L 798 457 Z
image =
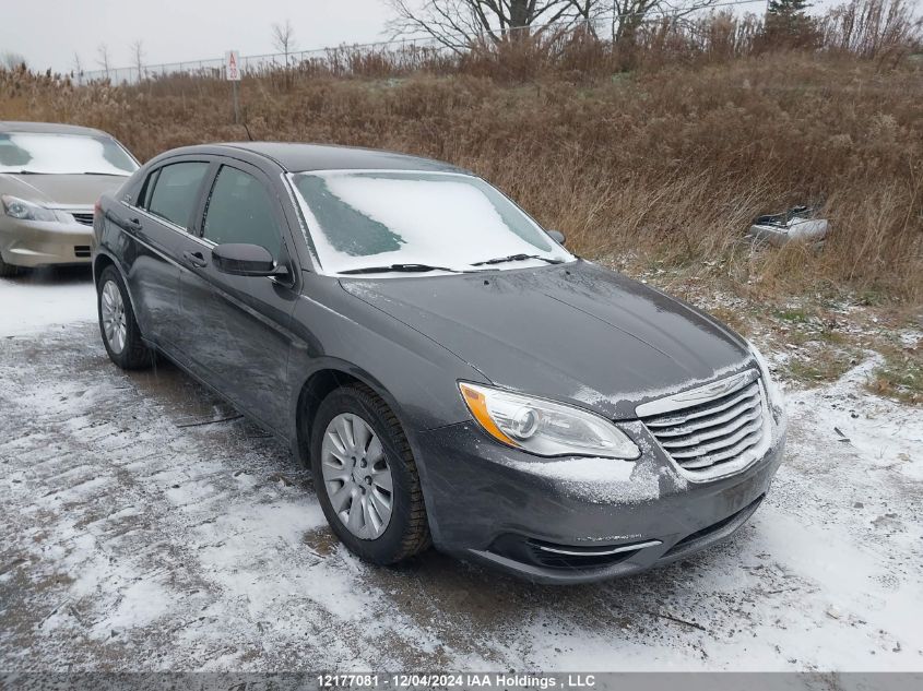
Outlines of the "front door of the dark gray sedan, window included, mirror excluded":
M 184 352 L 197 371 L 265 426 L 287 429 L 289 330 L 300 271 L 282 200 L 269 178 L 244 162 L 216 166 L 202 204 L 194 265 L 184 271 Z M 288 278 L 218 272 L 211 249 L 264 247 Z

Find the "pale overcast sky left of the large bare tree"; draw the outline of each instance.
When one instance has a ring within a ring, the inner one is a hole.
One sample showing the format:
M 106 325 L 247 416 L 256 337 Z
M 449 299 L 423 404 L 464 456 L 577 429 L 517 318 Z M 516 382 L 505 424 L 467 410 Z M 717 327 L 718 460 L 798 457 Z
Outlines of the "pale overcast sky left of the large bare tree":
M 57 71 L 73 69 L 74 52 L 98 69 L 100 43 L 109 67 L 131 65 L 138 39 L 150 64 L 276 52 L 270 27 L 286 19 L 299 50 L 381 40 L 390 16 L 383 0 L 0 0 L 0 53 Z

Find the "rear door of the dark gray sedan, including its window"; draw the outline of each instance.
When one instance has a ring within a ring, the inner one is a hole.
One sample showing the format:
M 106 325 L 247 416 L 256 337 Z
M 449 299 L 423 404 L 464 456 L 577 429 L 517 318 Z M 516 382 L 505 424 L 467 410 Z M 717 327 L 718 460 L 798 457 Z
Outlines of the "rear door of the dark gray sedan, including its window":
M 201 159 L 170 158 L 149 174 L 134 205 L 118 219 L 138 240 L 125 261 L 141 332 L 167 353 L 181 333 L 179 262 L 209 167 Z

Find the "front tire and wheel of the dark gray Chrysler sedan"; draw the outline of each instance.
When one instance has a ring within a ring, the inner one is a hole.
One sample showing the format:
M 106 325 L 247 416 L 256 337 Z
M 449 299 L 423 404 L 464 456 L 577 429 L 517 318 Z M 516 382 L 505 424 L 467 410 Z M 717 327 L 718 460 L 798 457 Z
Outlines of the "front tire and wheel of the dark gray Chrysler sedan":
M 413 453 L 401 424 L 368 386 L 332 392 L 311 433 L 311 474 L 336 537 L 376 564 L 409 559 L 430 545 Z

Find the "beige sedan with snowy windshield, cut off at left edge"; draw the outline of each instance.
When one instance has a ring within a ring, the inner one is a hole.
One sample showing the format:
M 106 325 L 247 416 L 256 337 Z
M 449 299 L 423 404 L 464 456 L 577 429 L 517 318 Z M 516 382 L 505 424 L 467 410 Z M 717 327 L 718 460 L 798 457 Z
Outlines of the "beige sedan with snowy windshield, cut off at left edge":
M 96 200 L 137 169 L 128 150 L 99 130 L 0 122 L 0 276 L 88 264 Z

